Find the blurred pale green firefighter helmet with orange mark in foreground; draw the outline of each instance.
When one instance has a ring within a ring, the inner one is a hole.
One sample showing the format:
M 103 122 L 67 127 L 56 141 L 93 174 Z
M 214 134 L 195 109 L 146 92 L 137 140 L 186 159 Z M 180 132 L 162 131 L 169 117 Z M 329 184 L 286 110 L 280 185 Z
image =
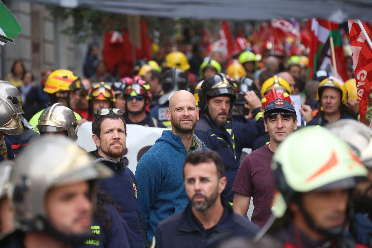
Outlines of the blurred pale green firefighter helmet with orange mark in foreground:
M 289 135 L 272 160 L 275 192 L 272 212 L 280 219 L 295 192 L 350 189 L 368 171 L 346 142 L 322 127 L 306 127 Z

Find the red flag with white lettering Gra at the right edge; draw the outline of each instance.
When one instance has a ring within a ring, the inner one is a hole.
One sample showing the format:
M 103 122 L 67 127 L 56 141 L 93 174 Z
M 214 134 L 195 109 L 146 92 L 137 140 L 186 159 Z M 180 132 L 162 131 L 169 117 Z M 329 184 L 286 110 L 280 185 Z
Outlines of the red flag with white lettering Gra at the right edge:
M 369 39 L 371 29 L 360 21 Z M 354 73 L 359 101 L 360 121 L 372 127 L 372 48 L 356 20 L 349 20 L 350 44 L 353 53 Z

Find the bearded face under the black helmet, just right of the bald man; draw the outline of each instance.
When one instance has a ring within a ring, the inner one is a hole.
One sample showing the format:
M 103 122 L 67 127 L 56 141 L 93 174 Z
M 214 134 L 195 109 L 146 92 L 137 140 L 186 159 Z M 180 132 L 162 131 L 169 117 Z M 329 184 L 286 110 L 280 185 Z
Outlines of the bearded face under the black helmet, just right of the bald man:
M 229 115 L 231 100 L 228 96 L 218 96 L 208 100 L 208 112 L 216 126 L 225 126 Z

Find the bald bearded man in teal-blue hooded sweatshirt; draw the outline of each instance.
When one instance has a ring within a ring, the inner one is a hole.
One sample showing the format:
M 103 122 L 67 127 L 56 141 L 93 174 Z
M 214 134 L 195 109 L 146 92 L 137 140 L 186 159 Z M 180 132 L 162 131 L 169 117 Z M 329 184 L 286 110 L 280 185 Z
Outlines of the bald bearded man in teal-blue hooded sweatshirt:
M 149 241 L 161 220 L 182 212 L 189 203 L 183 184 L 183 160 L 188 153 L 208 149 L 194 135 L 199 110 L 190 92 L 174 93 L 166 116 L 171 122 L 171 131 L 163 131 L 138 161 L 135 172 L 138 206 Z

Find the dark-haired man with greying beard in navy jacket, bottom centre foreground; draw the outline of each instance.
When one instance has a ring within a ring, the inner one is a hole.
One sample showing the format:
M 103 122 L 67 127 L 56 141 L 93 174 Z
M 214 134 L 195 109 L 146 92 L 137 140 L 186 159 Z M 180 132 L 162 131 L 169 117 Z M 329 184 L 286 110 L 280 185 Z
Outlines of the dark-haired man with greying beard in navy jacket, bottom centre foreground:
M 232 211 L 221 196 L 227 179 L 224 161 L 217 152 L 200 151 L 186 157 L 183 177 L 190 203 L 185 211 L 159 223 L 155 247 L 216 247 L 218 241 L 251 238 L 259 227 Z

